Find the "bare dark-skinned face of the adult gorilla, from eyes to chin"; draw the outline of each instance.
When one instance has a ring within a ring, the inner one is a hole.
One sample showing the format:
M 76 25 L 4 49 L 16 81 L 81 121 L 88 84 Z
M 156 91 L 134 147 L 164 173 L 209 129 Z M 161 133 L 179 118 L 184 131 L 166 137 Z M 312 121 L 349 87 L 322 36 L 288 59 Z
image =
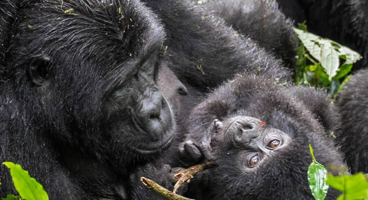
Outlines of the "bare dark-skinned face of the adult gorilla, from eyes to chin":
M 160 65 L 156 57 L 152 55 L 144 61 L 128 86 L 112 93 L 108 105 L 112 108 L 116 103 L 117 110 L 110 112 L 119 115 L 123 110 L 125 114 L 121 118 L 128 117 L 128 123 L 118 126 L 124 131 L 116 130 L 114 139 L 125 140 L 124 143 L 133 153 L 141 155 L 162 151 L 173 138 L 174 121 L 171 109 L 155 83 Z

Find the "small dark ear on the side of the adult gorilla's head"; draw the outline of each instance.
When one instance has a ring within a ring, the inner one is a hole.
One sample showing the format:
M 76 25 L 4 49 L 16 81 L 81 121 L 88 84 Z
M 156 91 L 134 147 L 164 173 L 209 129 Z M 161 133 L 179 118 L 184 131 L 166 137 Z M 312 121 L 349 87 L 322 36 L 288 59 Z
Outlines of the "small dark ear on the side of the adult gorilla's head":
M 27 73 L 33 84 L 43 86 L 48 83 L 51 58 L 45 55 L 34 57 L 28 66 Z

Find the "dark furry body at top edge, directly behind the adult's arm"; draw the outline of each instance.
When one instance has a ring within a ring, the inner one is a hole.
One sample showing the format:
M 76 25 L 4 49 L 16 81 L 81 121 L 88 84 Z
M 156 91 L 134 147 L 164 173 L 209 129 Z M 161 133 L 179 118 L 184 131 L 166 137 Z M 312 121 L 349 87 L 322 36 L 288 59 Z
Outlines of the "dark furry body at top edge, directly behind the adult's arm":
M 210 0 L 204 5 L 236 31 L 256 40 L 286 66 L 295 69 L 298 39 L 292 21 L 286 19 L 276 1 Z

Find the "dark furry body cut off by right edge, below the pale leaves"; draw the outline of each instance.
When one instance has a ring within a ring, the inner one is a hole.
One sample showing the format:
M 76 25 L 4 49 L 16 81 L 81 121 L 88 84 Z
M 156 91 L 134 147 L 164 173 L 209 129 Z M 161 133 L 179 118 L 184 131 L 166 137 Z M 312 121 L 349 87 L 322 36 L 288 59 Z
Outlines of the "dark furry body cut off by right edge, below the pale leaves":
M 336 132 L 351 173 L 368 173 L 368 70 L 357 71 L 337 94 L 342 117 Z

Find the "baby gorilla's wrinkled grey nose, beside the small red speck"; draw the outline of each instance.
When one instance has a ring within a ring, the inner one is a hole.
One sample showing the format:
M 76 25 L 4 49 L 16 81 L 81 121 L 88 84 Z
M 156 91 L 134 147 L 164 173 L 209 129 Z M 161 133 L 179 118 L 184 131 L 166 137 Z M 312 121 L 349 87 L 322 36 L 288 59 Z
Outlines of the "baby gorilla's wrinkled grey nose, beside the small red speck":
M 235 144 L 249 144 L 261 134 L 261 120 L 247 116 L 238 116 L 233 118 L 233 120 L 233 123 L 228 128 L 227 134 L 232 136 Z

